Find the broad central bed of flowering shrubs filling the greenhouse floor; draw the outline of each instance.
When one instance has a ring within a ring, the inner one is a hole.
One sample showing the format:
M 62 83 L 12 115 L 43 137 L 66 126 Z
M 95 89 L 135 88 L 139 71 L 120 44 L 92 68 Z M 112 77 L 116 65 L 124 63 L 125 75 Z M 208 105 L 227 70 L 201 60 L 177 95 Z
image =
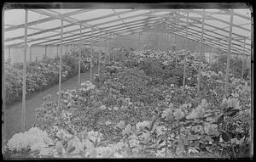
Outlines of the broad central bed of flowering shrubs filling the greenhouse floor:
M 182 57 L 188 52 L 173 53 L 181 53 Z M 175 68 L 183 60 L 173 61 L 173 53 L 119 53 L 122 59 L 95 75 L 95 85 L 86 81 L 80 88 L 61 92 L 60 108 L 50 96 L 45 97 L 37 109 L 37 129 L 44 130 L 51 142 L 44 141 L 44 145 L 39 145 L 43 147 L 34 147 L 32 142 L 25 147 L 15 141 L 18 137 L 12 137 L 6 154 L 48 158 L 248 156 L 250 83 L 230 77 L 230 96 L 219 91 L 221 99 L 209 94 L 198 99 L 193 73 L 187 76 L 192 81 L 186 82 L 191 86 L 184 88 L 178 80 L 165 83 L 169 78 L 162 78 L 159 68 L 163 62 L 167 60 L 165 65 Z M 188 54 L 188 62 L 189 57 Z M 144 64 L 152 60 L 158 64 L 150 67 L 153 72 L 148 72 Z M 197 60 L 191 58 L 188 69 L 193 70 L 196 64 Z M 211 84 L 202 87 L 219 89 L 218 84 L 212 84 L 216 79 L 207 64 L 202 71 L 202 82 Z

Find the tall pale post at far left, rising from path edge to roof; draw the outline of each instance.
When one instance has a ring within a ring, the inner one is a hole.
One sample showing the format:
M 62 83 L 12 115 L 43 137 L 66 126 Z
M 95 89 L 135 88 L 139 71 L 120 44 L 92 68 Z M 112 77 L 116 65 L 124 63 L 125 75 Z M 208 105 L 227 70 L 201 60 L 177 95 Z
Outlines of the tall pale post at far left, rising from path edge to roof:
M 26 46 L 27 46 L 27 16 L 28 10 L 25 9 L 25 25 L 24 25 L 24 58 L 23 58 L 23 84 L 22 84 L 22 122 L 21 131 L 25 131 L 25 116 L 26 116 Z

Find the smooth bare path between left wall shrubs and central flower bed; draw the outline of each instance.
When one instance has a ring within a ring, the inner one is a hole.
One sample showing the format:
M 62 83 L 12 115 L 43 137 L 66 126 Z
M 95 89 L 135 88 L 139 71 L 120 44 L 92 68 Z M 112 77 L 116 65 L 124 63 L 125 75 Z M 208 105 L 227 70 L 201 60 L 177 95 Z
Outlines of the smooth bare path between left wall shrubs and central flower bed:
M 92 74 L 95 74 L 97 66 L 92 69 Z M 90 71 L 81 74 L 81 82 L 90 80 Z M 72 89 L 73 87 L 78 87 L 79 76 L 75 75 L 67 81 L 61 83 L 61 89 L 67 90 Z M 53 94 L 53 98 L 57 100 L 56 92 L 58 92 L 59 85 L 56 84 L 48 89 L 45 89 L 42 92 L 38 92 L 32 98 L 26 99 L 26 122 L 25 129 L 26 131 L 35 124 L 36 116 L 35 109 L 38 108 L 43 102 L 44 96 L 48 94 Z M 5 119 L 6 130 L 4 132 L 4 139 L 9 139 L 15 133 L 21 131 L 21 102 L 15 103 L 14 105 L 7 106 L 5 110 Z M 5 141 L 6 142 L 6 141 Z

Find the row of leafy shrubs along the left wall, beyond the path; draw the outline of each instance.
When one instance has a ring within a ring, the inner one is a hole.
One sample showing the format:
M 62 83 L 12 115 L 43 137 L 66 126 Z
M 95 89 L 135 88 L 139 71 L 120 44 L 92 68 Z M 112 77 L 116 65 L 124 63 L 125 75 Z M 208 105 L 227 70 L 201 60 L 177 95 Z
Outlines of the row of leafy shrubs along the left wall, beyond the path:
M 90 69 L 90 48 L 83 47 L 77 51 L 69 51 L 62 57 L 61 81 L 79 73 L 79 53 L 81 53 L 81 72 Z M 93 65 L 98 64 L 98 54 L 100 51 L 93 50 Z M 100 53 L 102 56 L 104 53 Z M 44 58 L 42 61 L 30 62 L 26 64 L 26 94 L 41 91 L 45 87 L 56 84 L 59 80 L 60 59 Z M 13 103 L 21 98 L 23 81 L 23 63 L 15 63 L 8 66 L 5 63 L 4 74 L 6 103 Z

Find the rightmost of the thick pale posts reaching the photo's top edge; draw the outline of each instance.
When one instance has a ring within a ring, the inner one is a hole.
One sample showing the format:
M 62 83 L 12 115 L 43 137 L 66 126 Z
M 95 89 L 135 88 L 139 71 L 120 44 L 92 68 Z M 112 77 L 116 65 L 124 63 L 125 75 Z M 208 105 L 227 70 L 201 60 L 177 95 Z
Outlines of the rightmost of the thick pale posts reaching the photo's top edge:
M 230 75 L 230 51 L 231 51 L 231 41 L 232 41 L 232 27 L 233 27 L 233 9 L 230 11 L 230 39 L 229 39 L 229 52 L 228 52 L 228 59 L 227 59 L 227 70 L 226 70 L 226 77 L 225 77 L 225 87 L 224 92 L 228 95 L 228 84 L 229 84 L 229 75 Z

